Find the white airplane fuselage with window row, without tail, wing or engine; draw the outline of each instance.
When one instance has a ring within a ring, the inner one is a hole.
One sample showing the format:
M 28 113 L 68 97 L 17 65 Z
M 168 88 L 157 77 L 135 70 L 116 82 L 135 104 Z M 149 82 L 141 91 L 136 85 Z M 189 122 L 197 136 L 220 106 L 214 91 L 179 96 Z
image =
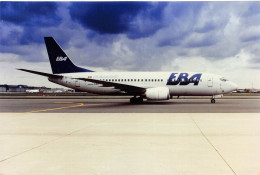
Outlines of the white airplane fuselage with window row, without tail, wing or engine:
M 168 87 L 170 96 L 213 96 L 232 92 L 237 85 L 220 75 L 210 73 L 172 72 L 82 72 L 60 74 L 63 78 L 49 78 L 51 82 L 95 94 L 124 94 L 114 87 L 104 87 L 74 78 L 89 78 L 142 88 Z M 193 75 L 200 75 L 194 78 Z M 180 79 L 178 79 L 180 77 Z M 184 78 L 183 78 L 184 77 Z M 194 78 L 194 81 L 193 81 Z M 196 82 L 196 83 L 195 83 Z

